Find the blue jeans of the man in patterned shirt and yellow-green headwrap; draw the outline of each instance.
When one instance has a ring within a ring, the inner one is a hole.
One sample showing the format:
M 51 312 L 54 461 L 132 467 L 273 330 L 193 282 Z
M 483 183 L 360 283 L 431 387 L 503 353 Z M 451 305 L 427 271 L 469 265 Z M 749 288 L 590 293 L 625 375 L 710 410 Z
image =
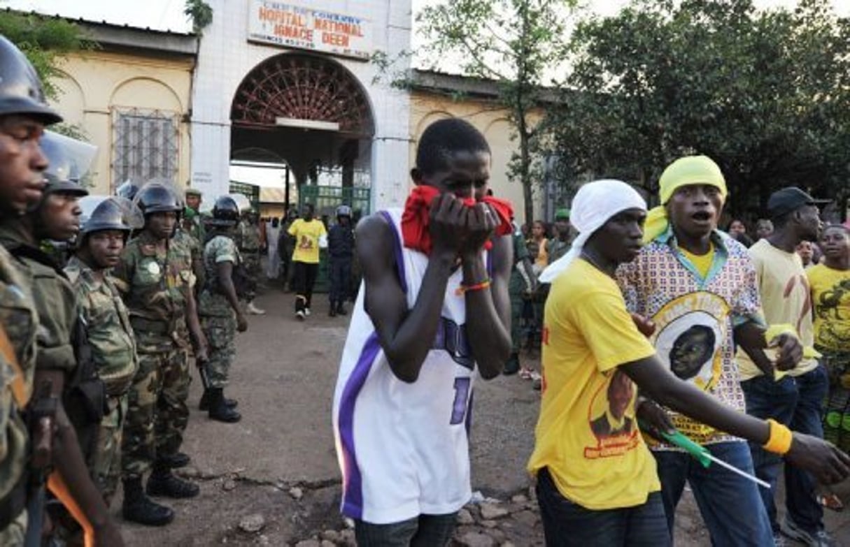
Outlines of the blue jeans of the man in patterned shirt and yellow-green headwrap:
M 747 443 L 715 443 L 706 445 L 706 448 L 718 460 L 741 471 L 753 472 Z M 755 483 L 719 465 L 703 467 L 699 461 L 682 452 L 657 450 L 653 455 L 658 463 L 661 497 L 671 534 L 676 505 L 682 498 L 685 482 L 689 482 L 712 545 L 762 547 L 774 544 L 768 513 Z

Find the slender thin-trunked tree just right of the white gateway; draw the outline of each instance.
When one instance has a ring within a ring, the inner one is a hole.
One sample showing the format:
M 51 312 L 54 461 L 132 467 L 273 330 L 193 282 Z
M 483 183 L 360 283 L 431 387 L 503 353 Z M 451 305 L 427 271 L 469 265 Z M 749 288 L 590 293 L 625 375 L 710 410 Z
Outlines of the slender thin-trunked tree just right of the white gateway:
M 508 176 L 523 186 L 524 213 L 534 218 L 533 189 L 541 178 L 536 155 L 540 133 L 532 110 L 546 99 L 544 88 L 562 59 L 566 18 L 574 0 L 448 0 L 416 14 L 425 38 L 422 55 L 438 68 L 458 59 L 465 76 L 495 81 L 519 150 Z

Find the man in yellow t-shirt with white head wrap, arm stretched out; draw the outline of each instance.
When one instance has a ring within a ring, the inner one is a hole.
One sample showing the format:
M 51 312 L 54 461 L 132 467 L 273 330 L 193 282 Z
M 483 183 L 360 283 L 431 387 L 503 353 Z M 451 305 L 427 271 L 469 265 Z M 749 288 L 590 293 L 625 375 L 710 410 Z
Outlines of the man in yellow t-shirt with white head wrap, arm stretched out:
M 792 437 L 785 426 L 728 408 L 661 364 L 644 336 L 651 327 L 632 319 L 614 280 L 617 266 L 637 257 L 643 238 L 646 204 L 632 187 L 588 183 L 575 195 L 572 211 L 579 235 L 541 275 L 553 285 L 542 336 L 541 412 L 528 469 L 537 477 L 547 545 L 672 544 L 655 459 L 638 416 L 667 431 L 670 425 L 655 403 L 636 403 L 632 381 L 658 403 L 768 444 L 819 477 L 835 482 L 850 473 L 850 457 L 835 447 Z M 781 448 L 779 437 L 785 438 Z

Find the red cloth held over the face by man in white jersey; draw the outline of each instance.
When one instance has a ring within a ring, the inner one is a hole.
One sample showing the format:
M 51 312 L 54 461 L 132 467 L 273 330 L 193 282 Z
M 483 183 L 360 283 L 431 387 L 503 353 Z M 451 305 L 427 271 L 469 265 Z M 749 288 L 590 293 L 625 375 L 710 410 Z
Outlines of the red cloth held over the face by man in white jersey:
M 411 190 L 411 195 L 407 196 L 405 211 L 401 215 L 401 235 L 405 240 L 405 247 L 408 249 L 420 251 L 426 255 L 431 254 L 432 243 L 428 223 L 431 220 L 431 202 L 438 195 L 439 190 L 433 186 L 420 185 Z M 491 206 L 499 216 L 496 235 L 513 233 L 513 226 L 511 225 L 513 207 L 510 201 L 487 196 L 481 202 Z M 474 198 L 463 200 L 463 204 L 467 207 L 475 206 L 475 203 Z M 484 244 L 484 249 L 490 250 L 492 246 L 493 242 L 488 240 Z

